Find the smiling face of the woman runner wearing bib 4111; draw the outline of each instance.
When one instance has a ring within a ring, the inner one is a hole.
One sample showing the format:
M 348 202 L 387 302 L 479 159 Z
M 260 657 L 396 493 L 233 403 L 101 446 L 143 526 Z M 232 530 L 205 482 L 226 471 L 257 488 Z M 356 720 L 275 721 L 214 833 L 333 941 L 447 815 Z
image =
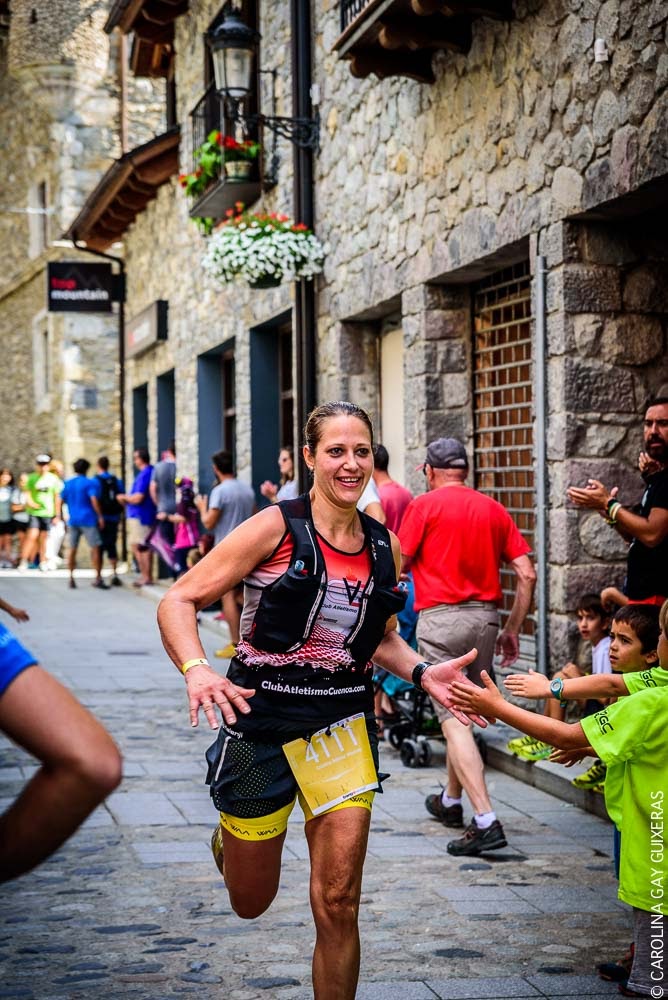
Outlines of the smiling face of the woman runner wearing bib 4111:
M 323 422 L 313 455 L 304 449 L 314 485 L 337 504 L 354 506 L 373 472 L 371 436 L 358 417 L 337 415 Z

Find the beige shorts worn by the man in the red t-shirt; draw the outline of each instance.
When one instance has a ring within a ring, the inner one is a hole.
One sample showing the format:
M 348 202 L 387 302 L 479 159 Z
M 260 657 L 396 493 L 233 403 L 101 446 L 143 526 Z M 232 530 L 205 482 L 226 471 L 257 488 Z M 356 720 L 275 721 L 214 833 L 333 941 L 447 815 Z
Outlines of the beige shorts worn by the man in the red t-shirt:
M 440 663 L 442 660 L 462 656 L 475 646 L 478 655 L 462 673 L 474 684 L 482 686 L 482 670 L 494 676 L 494 647 L 498 631 L 499 612 L 495 604 L 487 601 L 437 604 L 420 612 L 417 624 L 418 649 L 426 660 Z M 433 705 L 439 722 L 452 718 L 452 713 L 447 708 L 436 701 Z

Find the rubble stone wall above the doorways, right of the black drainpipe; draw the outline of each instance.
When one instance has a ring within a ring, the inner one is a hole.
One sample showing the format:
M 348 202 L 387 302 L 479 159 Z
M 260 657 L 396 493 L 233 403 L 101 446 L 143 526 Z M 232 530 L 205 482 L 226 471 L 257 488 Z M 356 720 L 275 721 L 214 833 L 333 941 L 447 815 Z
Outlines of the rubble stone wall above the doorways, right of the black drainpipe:
M 659 0 L 519 0 L 511 22 L 475 22 L 467 55 L 438 54 L 432 86 L 353 78 L 332 52 L 339 6 L 318 6 L 318 226 L 337 317 L 666 172 Z M 594 62 L 595 37 L 609 62 Z

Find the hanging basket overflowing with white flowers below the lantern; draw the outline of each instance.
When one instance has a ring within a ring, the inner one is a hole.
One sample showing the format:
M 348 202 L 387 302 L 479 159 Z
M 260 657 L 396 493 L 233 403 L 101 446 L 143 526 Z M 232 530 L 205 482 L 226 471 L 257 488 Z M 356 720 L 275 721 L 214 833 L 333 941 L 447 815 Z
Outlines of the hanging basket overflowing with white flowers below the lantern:
M 287 215 L 228 210 L 225 222 L 209 240 L 202 267 L 226 285 L 245 281 L 270 288 L 283 281 L 312 278 L 322 271 L 325 248 L 303 223 Z

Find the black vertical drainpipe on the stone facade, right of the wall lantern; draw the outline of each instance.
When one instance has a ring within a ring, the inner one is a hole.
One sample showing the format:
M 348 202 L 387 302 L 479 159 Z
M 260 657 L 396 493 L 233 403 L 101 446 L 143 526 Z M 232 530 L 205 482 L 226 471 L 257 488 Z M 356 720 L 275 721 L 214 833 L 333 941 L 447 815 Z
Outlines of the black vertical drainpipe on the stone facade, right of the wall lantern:
M 290 0 L 292 113 L 312 118 L 311 106 L 311 6 L 310 0 Z M 295 218 L 311 229 L 314 222 L 313 150 L 293 145 L 293 198 Z M 313 280 L 295 283 L 295 338 L 298 435 L 316 401 L 316 304 Z M 296 449 L 301 455 L 301 449 Z M 308 479 L 303 459 L 299 462 L 300 489 Z

